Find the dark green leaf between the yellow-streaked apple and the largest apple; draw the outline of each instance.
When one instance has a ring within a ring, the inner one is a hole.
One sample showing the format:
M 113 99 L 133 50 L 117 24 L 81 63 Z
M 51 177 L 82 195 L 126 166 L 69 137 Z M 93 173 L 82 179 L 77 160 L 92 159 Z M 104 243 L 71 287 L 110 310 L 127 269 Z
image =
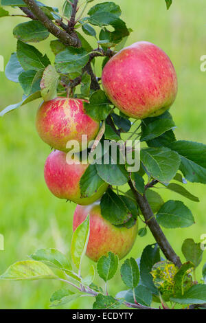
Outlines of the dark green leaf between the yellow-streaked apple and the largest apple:
M 84 102 L 84 108 L 91 118 L 101 121 L 106 119 L 108 113 L 111 111 L 109 104 L 110 102 L 108 102 L 104 91 L 98 90 L 91 95 L 89 103 Z

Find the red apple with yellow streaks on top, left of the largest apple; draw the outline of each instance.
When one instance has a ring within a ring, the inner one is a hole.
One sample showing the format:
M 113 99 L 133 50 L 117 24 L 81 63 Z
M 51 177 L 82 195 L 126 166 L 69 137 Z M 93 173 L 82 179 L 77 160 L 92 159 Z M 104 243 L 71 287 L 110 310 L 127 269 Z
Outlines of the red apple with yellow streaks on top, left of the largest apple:
M 36 115 L 36 129 L 43 142 L 58 151 L 69 151 L 69 140 L 77 140 L 80 151 L 87 148 L 82 147 L 82 135 L 87 135 L 88 142 L 95 139 L 100 123 L 85 113 L 83 102 L 60 97 L 43 102 Z

